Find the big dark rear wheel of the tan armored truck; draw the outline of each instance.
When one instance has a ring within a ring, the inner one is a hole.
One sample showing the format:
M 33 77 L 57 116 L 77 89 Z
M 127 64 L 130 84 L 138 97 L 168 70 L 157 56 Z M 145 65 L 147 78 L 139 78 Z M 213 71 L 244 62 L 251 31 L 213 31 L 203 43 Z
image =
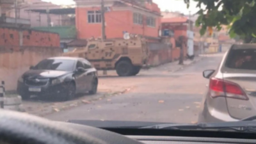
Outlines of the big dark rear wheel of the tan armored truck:
M 129 61 L 120 61 L 116 65 L 116 73 L 118 76 L 121 77 L 127 77 L 127 76 L 132 76 L 132 63 Z

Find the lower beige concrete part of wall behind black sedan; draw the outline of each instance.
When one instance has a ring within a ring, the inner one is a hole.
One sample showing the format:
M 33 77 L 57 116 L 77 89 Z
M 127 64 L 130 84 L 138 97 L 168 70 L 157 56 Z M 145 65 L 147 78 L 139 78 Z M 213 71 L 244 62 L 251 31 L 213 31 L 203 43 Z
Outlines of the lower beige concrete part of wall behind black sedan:
M 60 49 L 51 47 L 24 48 L 24 51 L 0 52 L 0 81 L 5 81 L 6 90 L 16 90 L 17 80 L 30 66 L 61 54 Z

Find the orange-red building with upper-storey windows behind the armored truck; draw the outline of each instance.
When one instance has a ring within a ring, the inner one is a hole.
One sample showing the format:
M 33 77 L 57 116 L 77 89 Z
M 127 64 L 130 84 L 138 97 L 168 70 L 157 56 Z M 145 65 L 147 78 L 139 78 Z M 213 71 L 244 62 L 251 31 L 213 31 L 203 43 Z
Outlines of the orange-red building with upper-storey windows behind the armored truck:
M 77 38 L 97 38 L 102 35 L 100 0 L 76 1 Z M 137 3 L 134 0 L 108 0 L 105 26 L 106 38 L 122 38 L 124 31 L 158 40 L 161 11 L 152 1 Z

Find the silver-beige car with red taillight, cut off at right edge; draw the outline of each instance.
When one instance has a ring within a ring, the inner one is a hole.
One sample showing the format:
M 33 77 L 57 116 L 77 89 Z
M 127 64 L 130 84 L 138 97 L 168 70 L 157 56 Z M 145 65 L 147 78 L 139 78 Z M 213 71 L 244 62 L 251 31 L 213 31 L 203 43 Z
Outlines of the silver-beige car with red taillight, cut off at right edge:
M 198 122 L 230 122 L 256 116 L 256 45 L 232 45 L 209 79 Z

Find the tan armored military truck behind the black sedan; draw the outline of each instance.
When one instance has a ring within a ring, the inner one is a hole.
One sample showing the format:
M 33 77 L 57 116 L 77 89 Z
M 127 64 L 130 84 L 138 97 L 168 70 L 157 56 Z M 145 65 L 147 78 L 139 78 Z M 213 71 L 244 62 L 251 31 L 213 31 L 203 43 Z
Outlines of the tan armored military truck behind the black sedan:
M 125 39 L 88 40 L 83 49 L 63 54 L 90 61 L 97 70 L 116 70 L 118 76 L 136 76 L 147 63 L 148 47 L 145 39 L 131 36 Z

